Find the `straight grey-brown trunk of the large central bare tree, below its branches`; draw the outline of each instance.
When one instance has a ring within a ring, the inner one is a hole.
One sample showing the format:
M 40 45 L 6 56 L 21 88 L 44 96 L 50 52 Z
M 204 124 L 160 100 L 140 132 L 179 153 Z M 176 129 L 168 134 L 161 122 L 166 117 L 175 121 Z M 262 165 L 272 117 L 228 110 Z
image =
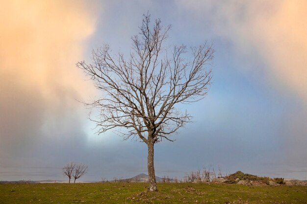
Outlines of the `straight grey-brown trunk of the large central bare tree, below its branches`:
M 155 181 L 154 165 L 153 165 L 153 143 L 148 143 L 147 168 L 149 176 L 149 191 L 157 191 L 157 183 Z

